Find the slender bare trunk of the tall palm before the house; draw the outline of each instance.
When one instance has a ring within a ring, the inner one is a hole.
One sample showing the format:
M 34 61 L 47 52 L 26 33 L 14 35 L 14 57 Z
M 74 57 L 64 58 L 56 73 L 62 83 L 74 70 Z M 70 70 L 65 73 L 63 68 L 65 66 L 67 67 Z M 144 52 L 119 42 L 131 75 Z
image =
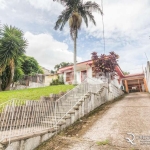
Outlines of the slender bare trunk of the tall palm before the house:
M 77 30 L 75 31 L 74 35 L 74 82 L 73 84 L 77 84 L 77 76 L 76 76 L 76 54 L 77 53 Z

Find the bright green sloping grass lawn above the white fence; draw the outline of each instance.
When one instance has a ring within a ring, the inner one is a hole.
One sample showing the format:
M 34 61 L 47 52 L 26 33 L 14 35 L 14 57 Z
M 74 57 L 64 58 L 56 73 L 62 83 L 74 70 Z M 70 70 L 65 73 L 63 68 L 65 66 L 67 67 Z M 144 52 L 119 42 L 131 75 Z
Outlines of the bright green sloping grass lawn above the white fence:
M 60 91 L 64 92 L 72 89 L 73 87 L 73 85 L 56 85 L 42 88 L 4 91 L 0 92 L 0 104 L 13 98 L 22 100 L 39 100 L 41 96 L 49 96 L 50 93 L 57 94 Z

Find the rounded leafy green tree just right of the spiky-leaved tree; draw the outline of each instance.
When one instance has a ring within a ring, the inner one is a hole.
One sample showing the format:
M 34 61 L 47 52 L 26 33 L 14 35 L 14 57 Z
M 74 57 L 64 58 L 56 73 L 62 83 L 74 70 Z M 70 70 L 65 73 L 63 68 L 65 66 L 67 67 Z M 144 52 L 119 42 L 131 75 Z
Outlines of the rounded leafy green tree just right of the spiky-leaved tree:
M 29 57 L 24 55 L 23 60 L 24 62 L 22 63 L 22 69 L 25 75 L 31 75 L 37 73 L 43 74 L 43 70 L 41 69 L 37 60 L 34 57 Z

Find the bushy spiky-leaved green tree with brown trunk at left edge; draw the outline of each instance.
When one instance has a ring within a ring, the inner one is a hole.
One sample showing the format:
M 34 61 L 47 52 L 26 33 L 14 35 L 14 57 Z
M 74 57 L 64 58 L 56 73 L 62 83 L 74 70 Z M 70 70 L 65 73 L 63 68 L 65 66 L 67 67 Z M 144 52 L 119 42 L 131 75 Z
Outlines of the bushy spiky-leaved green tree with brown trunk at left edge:
M 3 72 L 10 72 L 7 80 L 7 86 L 4 90 L 9 90 L 14 78 L 15 65 L 19 57 L 25 53 L 27 41 L 24 39 L 23 32 L 12 26 L 4 25 L 0 32 L 0 76 Z M 10 71 L 8 71 L 10 70 Z M 1 81 L 0 84 L 2 84 Z M 5 81 L 6 82 L 6 81 Z

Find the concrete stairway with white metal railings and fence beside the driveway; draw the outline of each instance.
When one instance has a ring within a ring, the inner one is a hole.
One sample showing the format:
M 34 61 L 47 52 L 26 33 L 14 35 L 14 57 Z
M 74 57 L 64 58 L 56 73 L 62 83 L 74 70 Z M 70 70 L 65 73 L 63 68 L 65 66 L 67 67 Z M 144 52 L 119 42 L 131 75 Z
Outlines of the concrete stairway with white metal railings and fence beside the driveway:
M 12 100 L 0 105 L 0 142 L 29 134 L 57 133 L 123 92 L 87 78 L 56 101 Z

